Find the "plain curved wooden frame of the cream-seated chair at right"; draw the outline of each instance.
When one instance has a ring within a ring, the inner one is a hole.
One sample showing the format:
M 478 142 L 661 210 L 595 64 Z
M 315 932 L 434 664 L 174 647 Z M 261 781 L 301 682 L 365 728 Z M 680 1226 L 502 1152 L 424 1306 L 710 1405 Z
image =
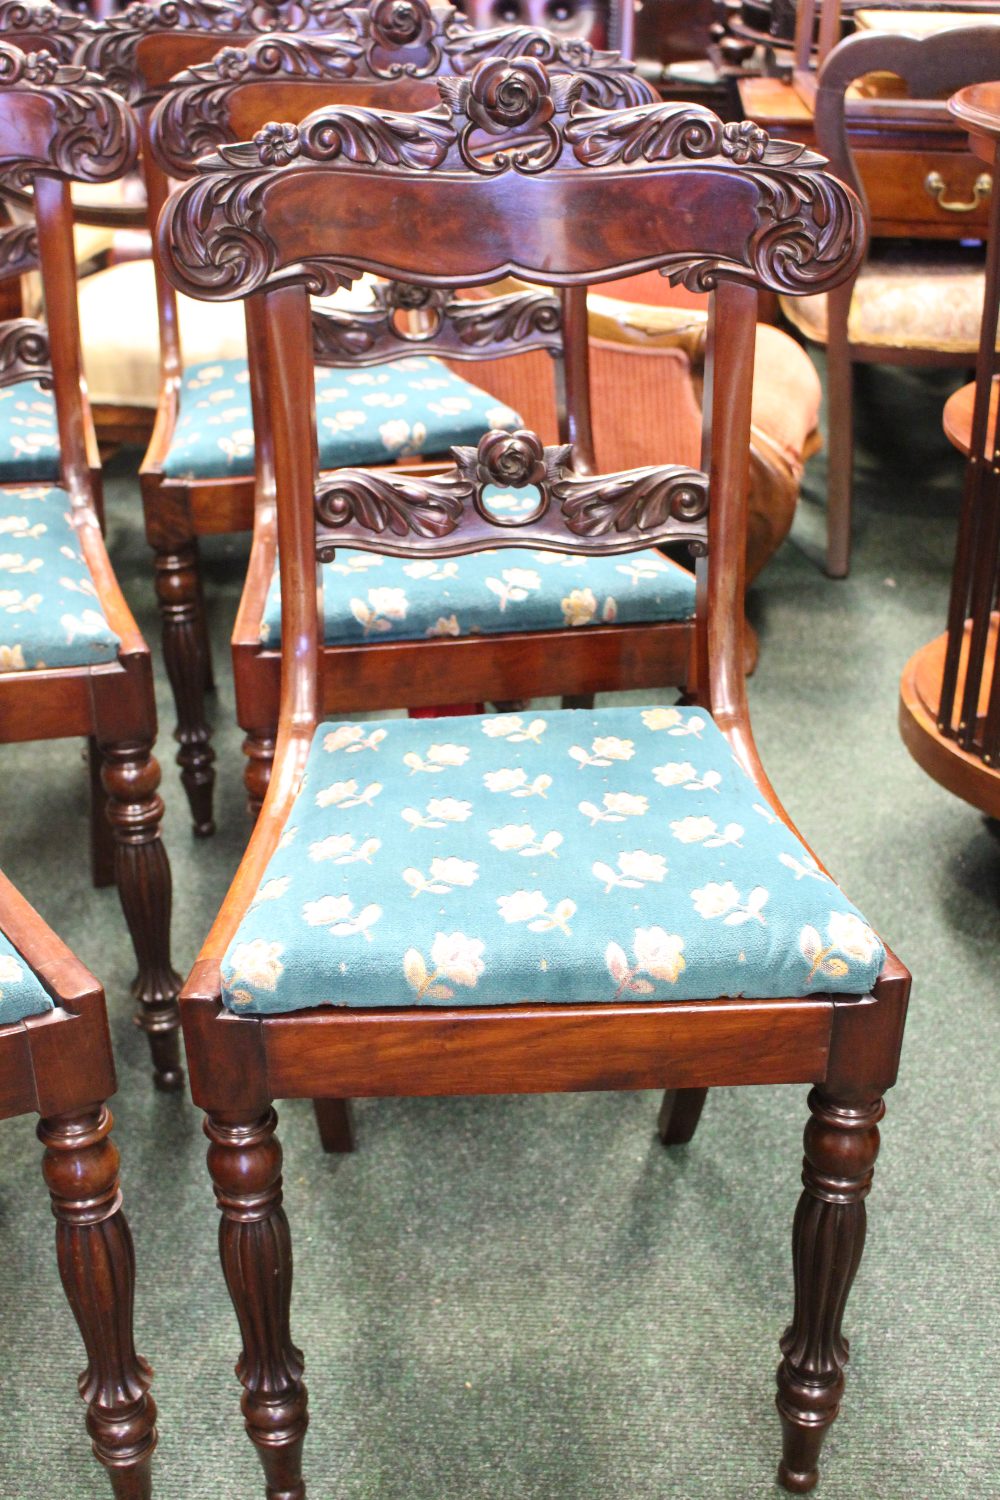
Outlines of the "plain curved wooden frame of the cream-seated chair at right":
M 996 27 L 958 27 L 936 36 L 891 36 L 865 33 L 835 46 L 819 74 L 816 92 L 816 140 L 831 160 L 831 168 L 865 200 L 862 180 L 853 159 L 846 105 L 850 84 L 868 72 L 898 74 L 910 88 L 910 99 L 885 100 L 879 117 L 888 122 L 906 111 L 919 130 L 945 112 L 942 96 L 969 82 L 988 82 L 1000 76 L 1000 30 Z M 937 96 L 937 98 L 936 98 Z M 874 105 L 865 104 L 873 114 Z M 912 364 L 966 369 L 972 352 L 940 350 L 894 350 L 883 345 L 855 344 L 847 333 L 855 279 L 837 286 L 826 302 L 826 376 L 828 376 L 828 516 L 826 572 L 844 578 L 850 567 L 850 522 L 853 489 L 853 366 Z

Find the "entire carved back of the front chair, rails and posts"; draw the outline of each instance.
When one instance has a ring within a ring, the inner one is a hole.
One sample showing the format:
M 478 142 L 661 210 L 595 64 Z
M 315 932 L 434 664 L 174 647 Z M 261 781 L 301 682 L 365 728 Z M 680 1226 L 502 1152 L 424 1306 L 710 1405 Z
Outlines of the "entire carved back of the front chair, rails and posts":
M 280 160 L 271 134 L 223 146 L 160 218 L 175 286 L 261 304 L 283 609 L 279 759 L 318 714 L 316 560 L 336 546 L 604 555 L 678 542 L 699 560 L 697 694 L 753 758 L 742 570 L 757 290 L 813 292 L 850 274 L 861 206 L 804 147 L 694 105 L 600 111 L 577 102 L 577 80 L 532 58 L 502 80 L 487 62 L 438 88 L 439 106 L 418 116 L 321 110 Z M 573 288 L 652 267 L 712 292 L 703 471 L 579 476 L 567 447 L 522 432 L 453 450 L 454 468 L 436 478 L 340 471 L 316 486 L 309 292 L 366 270 L 432 286 L 514 273 Z M 490 508 L 498 488 L 522 494 L 514 516 Z

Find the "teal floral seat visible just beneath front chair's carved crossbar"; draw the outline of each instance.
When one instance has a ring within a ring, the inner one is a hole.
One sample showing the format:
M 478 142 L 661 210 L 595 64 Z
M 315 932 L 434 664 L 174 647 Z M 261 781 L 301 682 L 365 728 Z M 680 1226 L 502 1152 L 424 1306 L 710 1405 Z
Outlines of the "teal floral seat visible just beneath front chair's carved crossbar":
M 343 548 L 322 567 L 327 645 L 651 624 L 694 614 L 694 574 L 654 552 L 573 558 L 510 548 L 405 561 Z M 282 633 L 277 573 L 261 639 Z

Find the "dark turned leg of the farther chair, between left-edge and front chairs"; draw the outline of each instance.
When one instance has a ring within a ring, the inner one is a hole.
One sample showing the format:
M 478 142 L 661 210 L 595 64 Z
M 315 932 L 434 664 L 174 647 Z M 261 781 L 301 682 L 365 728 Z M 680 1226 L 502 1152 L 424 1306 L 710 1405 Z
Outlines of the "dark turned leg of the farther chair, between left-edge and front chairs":
M 201 609 L 198 546 L 192 538 L 157 550 L 154 564 L 156 597 L 163 624 L 163 662 L 177 706 L 177 765 L 195 834 L 205 838 L 216 830 L 211 814 L 216 753 L 205 714 L 205 682 L 211 676 L 211 663 L 205 660 L 208 636 Z

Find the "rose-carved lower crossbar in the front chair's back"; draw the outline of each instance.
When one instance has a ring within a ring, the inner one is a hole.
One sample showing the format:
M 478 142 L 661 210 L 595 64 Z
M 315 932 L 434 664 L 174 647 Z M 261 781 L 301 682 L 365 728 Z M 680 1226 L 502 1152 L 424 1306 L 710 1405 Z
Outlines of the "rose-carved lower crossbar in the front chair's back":
M 454 466 L 432 478 L 391 470 L 340 470 L 321 478 L 319 560 L 328 561 L 337 546 L 400 556 L 540 546 L 594 556 L 675 542 L 699 556 L 706 552 L 708 477 L 699 470 L 667 464 L 576 474 L 568 444 L 546 447 L 525 430 L 487 432 L 478 447 L 451 454 Z M 493 510 L 496 490 L 522 492 L 528 512 Z

